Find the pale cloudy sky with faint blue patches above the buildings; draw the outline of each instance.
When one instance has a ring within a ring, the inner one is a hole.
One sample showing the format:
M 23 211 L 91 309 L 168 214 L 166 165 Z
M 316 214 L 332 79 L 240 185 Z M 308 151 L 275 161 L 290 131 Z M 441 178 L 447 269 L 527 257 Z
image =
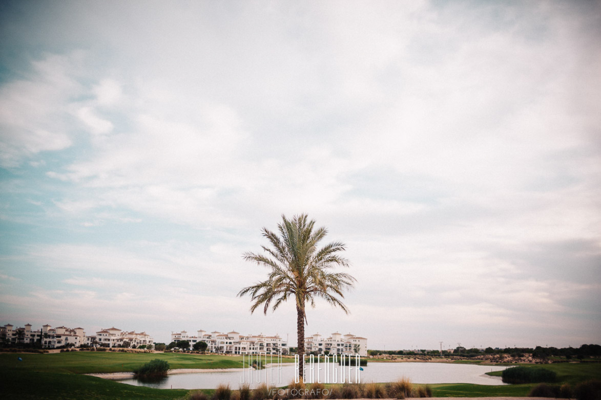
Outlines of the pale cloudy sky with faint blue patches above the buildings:
M 243 260 L 346 243 L 371 349 L 601 343 L 599 1 L 4 1 L 0 324 L 278 333 Z

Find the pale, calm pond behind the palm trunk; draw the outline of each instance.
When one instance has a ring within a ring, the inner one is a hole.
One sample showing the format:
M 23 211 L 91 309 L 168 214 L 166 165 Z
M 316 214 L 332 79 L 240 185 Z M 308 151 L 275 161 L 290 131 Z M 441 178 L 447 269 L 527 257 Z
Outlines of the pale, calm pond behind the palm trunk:
M 499 378 L 484 375 L 490 371 L 502 371 L 504 366 L 490 365 L 472 365 L 472 364 L 451 364 L 451 363 L 383 363 L 370 362 L 362 367 L 360 371 L 361 382 L 391 382 L 400 377 L 408 377 L 414 383 L 475 383 L 482 385 L 502 385 Z M 204 370 L 207 371 L 207 370 Z M 334 371 L 337 371 L 337 382 L 341 382 L 340 366 L 331 366 L 329 371 L 330 381 L 333 382 Z M 348 367 L 346 368 L 348 371 Z M 254 371 L 252 375 L 251 387 L 257 386 L 257 380 L 265 382 L 265 372 L 267 372 L 267 381 L 272 382 L 272 386 L 286 386 L 294 379 L 294 364 L 283 365 L 281 368 L 281 383 L 278 383 L 278 369 L 267 368 L 260 371 Z M 215 389 L 218 384 L 230 384 L 232 389 L 237 389 L 242 380 L 242 371 L 236 369 L 228 372 L 194 372 L 191 374 L 168 375 L 165 378 L 152 382 L 142 382 L 136 378 L 118 380 L 121 383 L 132 384 L 135 386 L 148 386 L 157 389 Z M 316 372 L 317 373 L 317 372 Z M 270 375 L 273 374 L 273 375 Z M 347 373 L 345 374 L 347 375 Z M 355 368 L 351 368 L 351 376 L 355 377 Z M 321 380 L 325 378 L 325 371 L 320 373 Z M 248 370 L 245 371 L 245 382 L 249 382 Z

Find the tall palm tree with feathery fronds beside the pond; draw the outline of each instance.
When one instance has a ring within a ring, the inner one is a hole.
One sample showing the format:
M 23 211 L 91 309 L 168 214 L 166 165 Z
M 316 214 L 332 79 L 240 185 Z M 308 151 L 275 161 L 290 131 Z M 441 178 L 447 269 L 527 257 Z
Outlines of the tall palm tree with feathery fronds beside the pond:
M 297 354 L 299 354 L 299 375 L 302 376 L 305 356 L 305 306 L 315 307 L 315 299 L 320 297 L 333 306 L 340 307 L 346 314 L 349 309 L 341 302 L 343 290 L 353 287 L 356 281 L 348 273 L 332 272 L 335 266 L 349 266 L 346 258 L 338 252 L 344 251 L 344 243 L 328 243 L 318 249 L 317 244 L 326 236 L 325 227 L 314 230 L 315 221 L 308 221 L 306 214 L 295 215 L 291 220 L 282 215 L 278 224 L 278 234 L 263 228 L 263 236 L 271 247 L 261 246 L 265 255 L 246 252 L 243 258 L 269 269 L 263 282 L 245 287 L 238 296 L 252 296 L 251 314 L 260 305 L 267 314 L 269 306 L 273 311 L 288 297 L 296 303 Z

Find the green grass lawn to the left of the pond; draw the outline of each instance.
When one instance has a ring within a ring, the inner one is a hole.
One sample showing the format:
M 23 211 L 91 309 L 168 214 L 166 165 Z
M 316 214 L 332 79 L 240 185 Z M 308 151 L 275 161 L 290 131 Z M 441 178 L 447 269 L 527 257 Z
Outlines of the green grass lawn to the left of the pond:
M 18 358 L 21 357 L 22 361 Z M 69 353 L 0 354 L 2 398 L 14 399 L 182 399 L 186 389 L 151 389 L 102 378 L 94 372 L 132 372 L 153 359 L 179 368 L 242 368 L 242 357 L 186 353 L 114 353 L 72 351 Z M 267 357 L 267 361 L 270 358 Z M 284 359 L 282 362 L 293 362 Z M 245 357 L 248 365 L 248 357 Z M 212 389 L 203 390 L 209 395 Z

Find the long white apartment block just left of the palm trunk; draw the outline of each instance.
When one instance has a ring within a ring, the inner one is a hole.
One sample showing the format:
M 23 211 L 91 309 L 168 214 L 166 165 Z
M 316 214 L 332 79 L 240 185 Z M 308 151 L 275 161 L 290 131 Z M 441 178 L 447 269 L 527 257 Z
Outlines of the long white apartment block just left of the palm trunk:
M 240 335 L 238 332 L 206 332 L 198 330 L 196 336 L 189 336 L 188 332 L 171 333 L 171 341 L 187 340 L 190 347 L 197 342 L 206 342 L 208 351 L 224 354 L 288 354 L 290 347 L 278 335 Z

